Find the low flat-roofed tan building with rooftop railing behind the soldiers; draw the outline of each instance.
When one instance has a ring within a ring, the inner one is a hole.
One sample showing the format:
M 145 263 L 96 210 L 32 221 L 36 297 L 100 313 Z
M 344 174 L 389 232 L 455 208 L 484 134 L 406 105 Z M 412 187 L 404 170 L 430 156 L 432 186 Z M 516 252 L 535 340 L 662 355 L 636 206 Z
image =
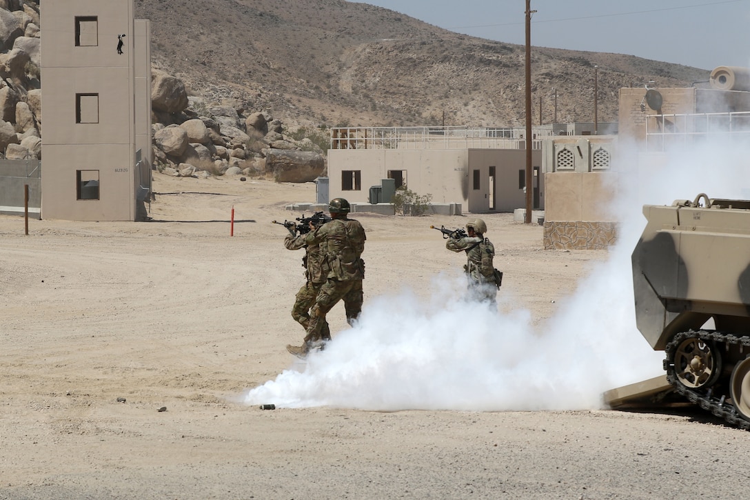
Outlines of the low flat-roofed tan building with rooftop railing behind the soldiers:
M 534 209 L 544 209 L 541 137 L 532 139 Z M 329 197 L 368 203 L 383 179 L 472 213 L 512 212 L 526 203 L 526 141 L 517 129 L 339 128 L 328 152 Z M 389 200 L 383 200 L 388 202 Z

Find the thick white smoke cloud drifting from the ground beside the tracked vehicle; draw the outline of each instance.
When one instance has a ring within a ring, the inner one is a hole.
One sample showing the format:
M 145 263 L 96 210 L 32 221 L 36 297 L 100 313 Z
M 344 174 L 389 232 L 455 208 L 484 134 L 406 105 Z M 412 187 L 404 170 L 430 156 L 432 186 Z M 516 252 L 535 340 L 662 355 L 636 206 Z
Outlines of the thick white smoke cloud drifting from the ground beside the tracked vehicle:
M 664 354 L 635 326 L 630 255 L 645 225 L 643 203 L 700 192 L 747 199 L 748 158 L 746 146 L 712 143 L 628 172 L 634 182 L 613 200 L 622 216 L 619 243 L 538 327 L 526 309 L 501 313 L 457 300 L 463 276 L 443 273 L 427 300 L 406 289 L 368 301 L 359 324 L 336 334 L 325 351 L 242 400 L 381 411 L 601 408 L 605 390 L 663 374 Z M 498 300 L 514 302 L 503 289 Z

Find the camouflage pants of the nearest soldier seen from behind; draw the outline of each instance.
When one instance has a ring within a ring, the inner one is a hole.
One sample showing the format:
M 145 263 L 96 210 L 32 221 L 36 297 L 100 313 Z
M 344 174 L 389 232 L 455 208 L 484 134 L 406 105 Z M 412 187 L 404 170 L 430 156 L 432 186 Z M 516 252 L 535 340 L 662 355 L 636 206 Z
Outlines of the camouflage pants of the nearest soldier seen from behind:
M 347 313 L 347 323 L 353 324 L 362 311 L 362 280 L 353 279 L 339 282 L 329 279 L 320 287 L 315 305 L 310 312 L 310 326 L 305 342 L 323 340 L 323 329 L 328 327 L 326 315 L 339 300 L 344 300 L 344 310 Z M 330 333 L 329 333 L 330 336 Z

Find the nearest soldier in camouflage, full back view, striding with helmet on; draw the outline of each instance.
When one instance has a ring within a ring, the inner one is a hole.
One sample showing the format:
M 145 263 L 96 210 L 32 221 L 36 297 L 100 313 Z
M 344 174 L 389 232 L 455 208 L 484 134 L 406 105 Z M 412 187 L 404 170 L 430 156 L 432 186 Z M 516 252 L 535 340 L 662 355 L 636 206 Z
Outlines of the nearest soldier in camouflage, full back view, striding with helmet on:
M 287 345 L 287 351 L 296 357 L 305 358 L 312 349 L 323 348 L 326 315 L 339 300 L 344 300 L 349 324 L 353 324 L 362 311 L 365 263 L 360 255 L 365 250 L 365 228 L 359 221 L 347 218 L 350 205 L 344 198 L 331 200 L 329 212 L 332 221 L 305 235 L 307 245 L 320 245 L 325 253 L 329 274 L 311 309 L 305 342 L 299 347 Z

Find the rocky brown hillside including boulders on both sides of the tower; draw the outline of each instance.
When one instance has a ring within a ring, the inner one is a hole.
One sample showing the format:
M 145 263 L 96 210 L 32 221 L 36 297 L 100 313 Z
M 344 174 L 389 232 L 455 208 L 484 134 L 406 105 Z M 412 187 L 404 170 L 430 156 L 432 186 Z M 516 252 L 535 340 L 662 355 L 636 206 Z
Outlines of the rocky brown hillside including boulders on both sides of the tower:
M 522 46 L 344 0 L 134 5 L 136 17 L 151 20 L 155 162 L 181 175 L 233 168 L 314 178 L 325 168 L 319 127 L 525 123 Z M 41 154 L 39 12 L 39 0 L 0 0 L 0 151 L 7 158 Z M 601 122 L 616 120 L 623 86 L 690 86 L 709 77 L 633 56 L 535 47 L 533 121 L 540 97 L 542 120 L 552 120 L 553 88 L 559 122 L 591 121 L 594 65 Z

